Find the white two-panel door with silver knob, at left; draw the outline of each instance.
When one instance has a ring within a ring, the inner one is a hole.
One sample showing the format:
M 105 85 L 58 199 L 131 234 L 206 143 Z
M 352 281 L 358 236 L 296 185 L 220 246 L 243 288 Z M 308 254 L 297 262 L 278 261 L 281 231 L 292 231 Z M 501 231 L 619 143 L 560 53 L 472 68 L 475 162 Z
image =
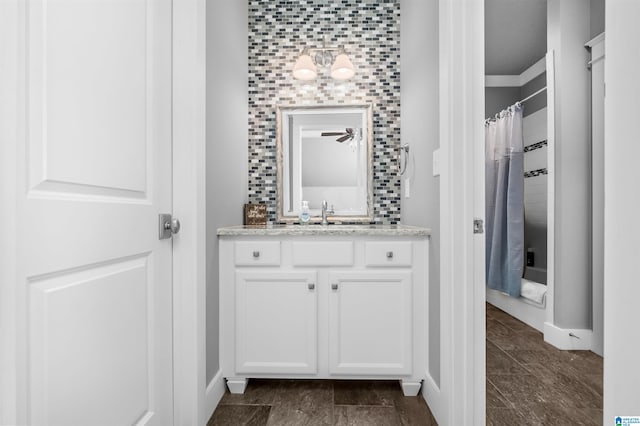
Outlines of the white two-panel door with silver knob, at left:
M 171 424 L 171 0 L 19 7 L 18 420 Z

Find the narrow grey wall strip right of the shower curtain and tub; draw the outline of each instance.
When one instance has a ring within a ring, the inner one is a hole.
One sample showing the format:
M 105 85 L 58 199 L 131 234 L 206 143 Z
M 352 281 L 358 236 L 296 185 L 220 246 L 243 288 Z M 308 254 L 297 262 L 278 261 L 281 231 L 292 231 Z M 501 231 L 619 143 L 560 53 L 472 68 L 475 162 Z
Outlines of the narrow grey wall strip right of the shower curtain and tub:
M 590 3 L 549 0 L 556 59 L 555 325 L 591 328 Z

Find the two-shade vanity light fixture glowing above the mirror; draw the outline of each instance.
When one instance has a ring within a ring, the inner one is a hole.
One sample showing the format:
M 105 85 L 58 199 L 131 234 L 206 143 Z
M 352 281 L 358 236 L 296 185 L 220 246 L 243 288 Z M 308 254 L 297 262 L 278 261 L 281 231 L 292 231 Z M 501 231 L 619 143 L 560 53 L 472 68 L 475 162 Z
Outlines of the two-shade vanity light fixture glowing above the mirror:
M 335 80 L 348 80 L 355 75 L 355 69 L 343 48 L 305 47 L 293 67 L 293 77 L 297 80 L 313 80 L 318 76 L 318 66 L 331 66 L 331 77 Z

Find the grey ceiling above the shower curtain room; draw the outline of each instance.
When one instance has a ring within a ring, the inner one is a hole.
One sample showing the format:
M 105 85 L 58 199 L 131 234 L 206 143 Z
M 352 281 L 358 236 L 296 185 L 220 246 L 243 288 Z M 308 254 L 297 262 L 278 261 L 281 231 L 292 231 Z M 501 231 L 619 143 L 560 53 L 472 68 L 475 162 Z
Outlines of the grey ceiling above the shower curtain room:
M 485 74 L 517 75 L 547 51 L 547 0 L 485 0 Z

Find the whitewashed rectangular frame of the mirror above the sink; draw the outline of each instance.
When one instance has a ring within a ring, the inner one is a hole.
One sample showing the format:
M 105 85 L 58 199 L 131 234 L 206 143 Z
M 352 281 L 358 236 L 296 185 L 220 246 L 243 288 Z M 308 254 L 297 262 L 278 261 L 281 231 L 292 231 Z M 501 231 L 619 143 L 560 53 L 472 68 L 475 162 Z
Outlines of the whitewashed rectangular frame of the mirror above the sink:
M 345 113 L 363 113 L 366 120 L 366 213 L 358 215 L 333 214 L 328 217 L 330 222 L 348 222 L 348 223 L 370 223 L 373 222 L 373 106 L 371 104 L 358 105 L 314 105 L 314 106 L 296 106 L 296 105 L 279 105 L 276 107 L 276 124 L 277 124 L 277 220 L 280 223 L 293 223 L 298 221 L 296 214 L 285 214 L 284 211 L 284 174 L 285 174 L 285 158 L 283 146 L 284 122 L 283 116 L 290 115 L 295 112 L 310 114 L 313 112 L 326 112 L 339 114 Z M 312 215 L 311 222 L 319 223 L 320 215 Z

